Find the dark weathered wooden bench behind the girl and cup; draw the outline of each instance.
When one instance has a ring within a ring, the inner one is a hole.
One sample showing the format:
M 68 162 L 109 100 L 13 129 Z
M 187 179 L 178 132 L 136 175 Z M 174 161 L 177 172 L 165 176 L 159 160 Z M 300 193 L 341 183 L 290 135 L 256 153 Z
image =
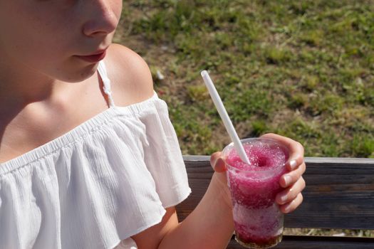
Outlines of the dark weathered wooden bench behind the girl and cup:
M 177 206 L 182 221 L 212 177 L 208 156 L 185 156 L 192 194 Z M 303 204 L 285 216 L 286 228 L 374 230 L 374 159 L 307 157 Z M 232 238 L 227 248 L 242 248 Z M 275 248 L 374 248 L 374 238 L 284 235 Z

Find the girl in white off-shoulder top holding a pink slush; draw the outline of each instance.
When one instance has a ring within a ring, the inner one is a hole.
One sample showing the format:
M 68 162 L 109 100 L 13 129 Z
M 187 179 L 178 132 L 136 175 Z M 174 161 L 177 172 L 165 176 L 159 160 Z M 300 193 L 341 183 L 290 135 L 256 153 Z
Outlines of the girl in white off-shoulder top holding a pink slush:
M 111 44 L 122 0 L 0 2 L 0 248 L 225 248 L 234 230 L 220 152 L 199 206 L 150 70 Z M 277 196 L 302 201 L 303 147 Z

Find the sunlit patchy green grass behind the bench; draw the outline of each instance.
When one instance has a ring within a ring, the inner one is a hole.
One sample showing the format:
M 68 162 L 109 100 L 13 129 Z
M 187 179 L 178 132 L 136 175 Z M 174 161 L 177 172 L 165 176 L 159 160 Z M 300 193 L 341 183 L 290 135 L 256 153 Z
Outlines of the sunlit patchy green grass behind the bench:
M 308 157 L 374 157 L 374 1 L 124 1 L 115 41 L 140 53 L 184 154 L 276 132 Z M 157 80 L 160 70 L 165 80 Z

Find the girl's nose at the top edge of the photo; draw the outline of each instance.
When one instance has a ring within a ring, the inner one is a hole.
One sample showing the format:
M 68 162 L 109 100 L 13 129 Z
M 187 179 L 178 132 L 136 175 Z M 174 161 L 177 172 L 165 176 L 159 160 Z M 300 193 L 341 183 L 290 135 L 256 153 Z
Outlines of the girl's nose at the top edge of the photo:
M 115 1 L 92 0 L 87 4 L 85 13 L 88 13 L 87 21 L 83 24 L 85 36 L 106 36 L 115 31 L 119 21 L 118 6 Z

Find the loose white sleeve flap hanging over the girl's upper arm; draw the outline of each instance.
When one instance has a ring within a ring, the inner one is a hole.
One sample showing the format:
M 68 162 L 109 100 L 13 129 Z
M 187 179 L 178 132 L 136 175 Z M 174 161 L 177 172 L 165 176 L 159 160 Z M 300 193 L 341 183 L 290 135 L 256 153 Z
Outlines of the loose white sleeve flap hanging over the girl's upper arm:
M 155 180 L 162 206 L 167 208 L 187 198 L 191 189 L 167 104 L 163 100 L 157 100 L 155 105 L 150 106 L 150 110 L 139 118 L 145 124 L 145 164 Z

